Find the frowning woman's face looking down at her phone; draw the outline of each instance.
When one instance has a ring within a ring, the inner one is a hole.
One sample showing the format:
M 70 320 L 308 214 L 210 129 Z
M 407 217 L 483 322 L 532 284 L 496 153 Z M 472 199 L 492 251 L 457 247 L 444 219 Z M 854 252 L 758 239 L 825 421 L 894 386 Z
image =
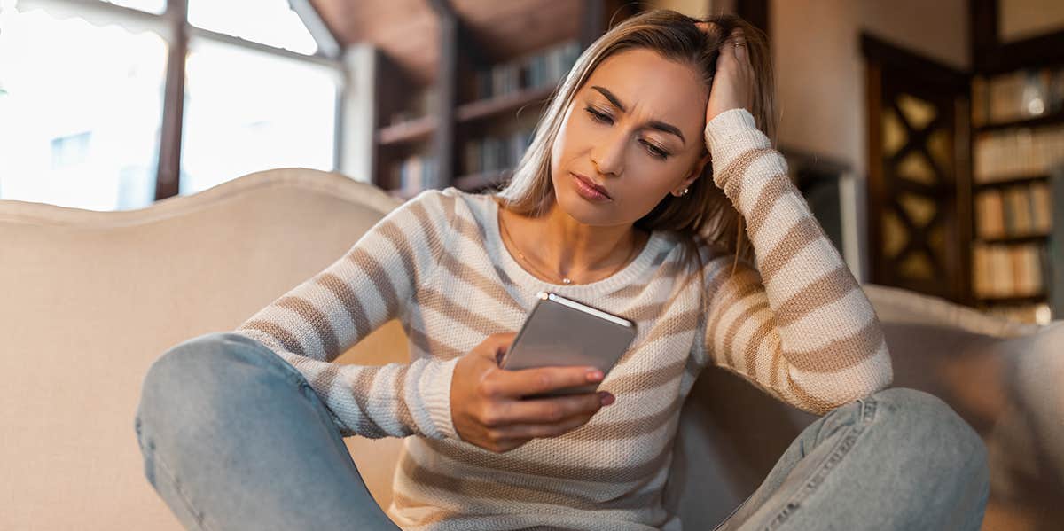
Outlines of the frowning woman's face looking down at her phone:
M 608 57 L 577 92 L 551 146 L 558 204 L 592 226 L 645 216 L 705 164 L 699 155 L 708 101 L 709 90 L 688 66 L 645 49 Z

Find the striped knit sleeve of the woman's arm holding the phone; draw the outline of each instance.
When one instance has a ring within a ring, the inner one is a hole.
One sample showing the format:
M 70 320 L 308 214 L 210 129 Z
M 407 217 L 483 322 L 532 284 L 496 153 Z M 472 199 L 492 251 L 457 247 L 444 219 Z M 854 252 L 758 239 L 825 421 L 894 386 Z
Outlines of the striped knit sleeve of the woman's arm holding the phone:
M 453 201 L 427 190 L 379 220 L 334 263 L 292 288 L 234 332 L 266 346 L 300 374 L 344 436 L 453 438 L 450 383 L 458 359 L 382 366 L 333 363 L 403 315 L 435 269 Z

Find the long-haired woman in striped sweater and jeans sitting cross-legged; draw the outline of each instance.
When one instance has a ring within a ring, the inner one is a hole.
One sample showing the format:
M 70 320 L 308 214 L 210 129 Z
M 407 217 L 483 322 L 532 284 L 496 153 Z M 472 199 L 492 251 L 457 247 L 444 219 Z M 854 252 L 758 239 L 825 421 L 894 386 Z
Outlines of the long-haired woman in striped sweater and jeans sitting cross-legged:
M 764 34 L 735 17 L 610 30 L 505 189 L 422 193 L 234 332 L 156 361 L 136 422 L 152 484 L 190 529 L 676 530 L 680 404 L 713 363 L 826 414 L 724 528 L 978 529 L 981 442 L 883 391 L 876 314 L 759 129 L 771 89 Z M 497 366 L 541 289 L 637 321 L 608 378 Z M 330 363 L 392 318 L 411 363 Z M 405 437 L 387 515 L 350 435 Z

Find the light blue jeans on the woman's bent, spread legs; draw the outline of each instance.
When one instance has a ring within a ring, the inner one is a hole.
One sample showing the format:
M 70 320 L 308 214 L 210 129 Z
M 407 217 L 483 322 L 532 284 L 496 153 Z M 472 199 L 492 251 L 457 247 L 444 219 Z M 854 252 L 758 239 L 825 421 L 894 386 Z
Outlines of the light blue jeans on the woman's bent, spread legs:
M 242 335 L 155 360 L 134 425 L 145 475 L 186 529 L 399 529 L 302 375 Z M 987 476 L 949 406 L 886 389 L 810 425 L 718 529 L 977 530 Z

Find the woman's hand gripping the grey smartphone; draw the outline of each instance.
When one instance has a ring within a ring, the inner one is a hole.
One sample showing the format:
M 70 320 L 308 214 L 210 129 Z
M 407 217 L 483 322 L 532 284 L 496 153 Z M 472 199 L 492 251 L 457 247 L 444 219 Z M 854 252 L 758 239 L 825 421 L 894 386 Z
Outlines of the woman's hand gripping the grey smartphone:
M 608 392 L 521 400 L 522 396 L 599 382 L 602 377 L 586 366 L 502 369 L 499 356 L 516 335 L 487 336 L 459 360 L 451 378 L 451 419 L 459 437 L 499 453 L 535 437 L 556 437 L 575 430 L 614 400 Z M 599 376 L 594 379 L 588 372 Z

